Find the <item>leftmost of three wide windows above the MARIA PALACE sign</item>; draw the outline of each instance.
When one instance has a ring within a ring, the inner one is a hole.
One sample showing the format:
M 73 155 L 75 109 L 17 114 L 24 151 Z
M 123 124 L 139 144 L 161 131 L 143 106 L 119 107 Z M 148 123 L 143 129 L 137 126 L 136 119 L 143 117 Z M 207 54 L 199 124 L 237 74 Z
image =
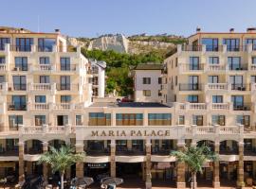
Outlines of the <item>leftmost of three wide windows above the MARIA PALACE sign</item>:
M 111 113 L 89 112 L 89 126 L 110 126 Z

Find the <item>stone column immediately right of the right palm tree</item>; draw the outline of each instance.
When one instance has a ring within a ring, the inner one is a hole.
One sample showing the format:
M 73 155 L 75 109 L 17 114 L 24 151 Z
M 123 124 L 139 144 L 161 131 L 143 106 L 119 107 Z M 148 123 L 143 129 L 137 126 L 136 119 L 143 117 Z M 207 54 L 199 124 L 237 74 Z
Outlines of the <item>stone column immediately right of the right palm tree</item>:
M 219 142 L 215 142 L 214 152 L 215 152 L 215 154 L 220 153 L 220 143 Z M 220 162 L 219 162 L 218 159 L 213 163 L 212 186 L 214 188 L 219 188 L 220 187 Z

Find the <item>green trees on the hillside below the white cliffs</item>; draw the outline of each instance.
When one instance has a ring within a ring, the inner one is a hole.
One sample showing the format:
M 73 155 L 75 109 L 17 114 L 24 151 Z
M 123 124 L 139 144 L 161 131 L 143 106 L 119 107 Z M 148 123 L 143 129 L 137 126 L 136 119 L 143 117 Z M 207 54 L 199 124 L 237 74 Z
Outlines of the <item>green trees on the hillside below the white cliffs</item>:
M 130 66 L 146 62 L 161 63 L 164 60 L 164 56 L 156 52 L 130 55 L 127 53 L 118 53 L 113 50 L 101 51 L 95 49 L 89 51 L 82 48 L 82 54 L 88 59 L 106 61 L 106 93 L 110 94 L 116 90 L 122 96 L 133 93 L 133 80 L 131 77 L 128 77 Z

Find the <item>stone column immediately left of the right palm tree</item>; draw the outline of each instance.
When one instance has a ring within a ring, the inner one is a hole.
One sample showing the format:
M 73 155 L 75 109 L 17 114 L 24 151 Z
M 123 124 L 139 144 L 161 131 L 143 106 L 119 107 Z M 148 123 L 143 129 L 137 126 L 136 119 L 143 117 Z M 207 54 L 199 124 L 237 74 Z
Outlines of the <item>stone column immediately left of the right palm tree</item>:
M 178 142 L 177 143 L 177 149 L 183 150 L 185 146 L 185 142 Z M 182 162 L 176 162 L 177 164 L 177 188 L 186 188 L 186 182 L 185 182 L 185 163 Z

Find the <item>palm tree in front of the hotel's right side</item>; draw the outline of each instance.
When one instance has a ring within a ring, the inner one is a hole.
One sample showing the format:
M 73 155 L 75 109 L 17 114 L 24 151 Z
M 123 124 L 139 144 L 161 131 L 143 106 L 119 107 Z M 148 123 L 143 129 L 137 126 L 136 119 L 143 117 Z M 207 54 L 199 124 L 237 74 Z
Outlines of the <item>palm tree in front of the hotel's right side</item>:
M 215 161 L 216 155 L 209 146 L 185 146 L 183 151 L 172 151 L 178 162 L 186 163 L 192 171 L 192 188 L 196 188 L 196 173 L 203 172 L 203 165 L 208 161 Z

